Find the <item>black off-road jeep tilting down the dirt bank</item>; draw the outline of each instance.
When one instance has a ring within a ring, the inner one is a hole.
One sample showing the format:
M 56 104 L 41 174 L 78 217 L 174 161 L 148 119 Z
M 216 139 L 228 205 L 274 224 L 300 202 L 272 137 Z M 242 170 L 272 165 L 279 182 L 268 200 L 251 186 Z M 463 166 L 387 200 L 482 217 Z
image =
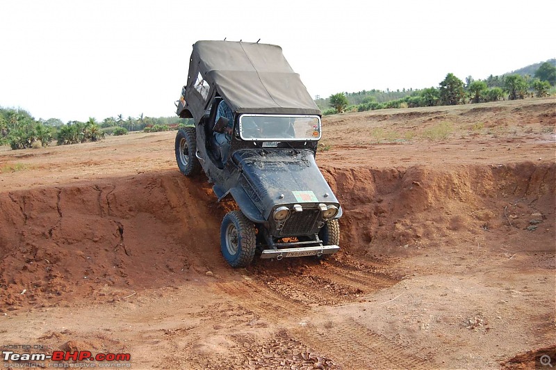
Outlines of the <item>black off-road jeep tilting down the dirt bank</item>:
M 224 100 L 233 121 L 216 122 Z M 250 42 L 198 41 L 177 115 L 176 160 L 193 176 L 204 170 L 230 211 L 220 227 L 231 266 L 261 258 L 323 257 L 339 250 L 342 209 L 315 163 L 321 113 L 281 48 Z M 229 156 L 220 158 L 215 127 L 233 127 Z

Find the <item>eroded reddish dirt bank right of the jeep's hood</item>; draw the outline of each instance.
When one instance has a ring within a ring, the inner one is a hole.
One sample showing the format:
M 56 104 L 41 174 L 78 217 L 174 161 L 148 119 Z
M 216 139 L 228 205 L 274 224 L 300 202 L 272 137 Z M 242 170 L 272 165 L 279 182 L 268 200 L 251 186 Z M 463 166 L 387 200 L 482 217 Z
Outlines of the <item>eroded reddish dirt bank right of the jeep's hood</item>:
M 537 225 L 530 225 L 537 223 L 534 220 L 550 227 L 546 231 L 541 226 L 539 232 L 554 235 L 554 163 L 459 166 L 451 172 L 427 166 L 351 171 L 325 167 L 324 172 L 348 210 L 341 244 L 359 252 L 403 254 L 402 246 L 435 247 L 439 244 L 434 240 L 445 242 L 455 235 L 472 240 L 477 232 L 506 227 L 510 234 L 523 234 Z

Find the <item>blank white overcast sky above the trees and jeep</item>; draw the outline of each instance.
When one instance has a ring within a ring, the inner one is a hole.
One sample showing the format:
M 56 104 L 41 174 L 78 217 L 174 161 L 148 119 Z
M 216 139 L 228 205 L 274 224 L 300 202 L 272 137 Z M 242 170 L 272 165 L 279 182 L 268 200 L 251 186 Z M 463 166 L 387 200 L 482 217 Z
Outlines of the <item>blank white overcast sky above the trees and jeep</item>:
M 556 1 L 0 0 L 0 106 L 175 115 L 192 45 L 280 45 L 309 94 L 439 86 L 556 56 Z

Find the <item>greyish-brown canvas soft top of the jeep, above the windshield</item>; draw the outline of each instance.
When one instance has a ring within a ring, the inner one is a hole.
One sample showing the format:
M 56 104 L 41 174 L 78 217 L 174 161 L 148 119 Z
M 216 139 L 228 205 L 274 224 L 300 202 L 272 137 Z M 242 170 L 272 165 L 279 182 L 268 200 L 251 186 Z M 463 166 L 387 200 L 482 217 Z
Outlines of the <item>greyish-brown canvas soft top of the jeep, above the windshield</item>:
M 186 94 L 194 116 L 204 114 L 214 95 L 222 96 L 236 113 L 320 115 L 299 74 L 293 72 L 277 45 L 195 42 Z

